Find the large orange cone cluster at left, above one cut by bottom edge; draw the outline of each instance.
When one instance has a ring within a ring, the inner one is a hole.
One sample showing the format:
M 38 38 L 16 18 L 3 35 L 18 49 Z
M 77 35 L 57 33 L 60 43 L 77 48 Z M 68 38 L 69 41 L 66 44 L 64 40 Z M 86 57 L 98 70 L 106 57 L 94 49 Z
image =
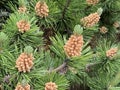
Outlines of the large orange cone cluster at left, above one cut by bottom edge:
M 18 68 L 19 72 L 30 72 L 30 69 L 33 66 L 33 55 L 21 53 L 16 61 L 16 67 Z

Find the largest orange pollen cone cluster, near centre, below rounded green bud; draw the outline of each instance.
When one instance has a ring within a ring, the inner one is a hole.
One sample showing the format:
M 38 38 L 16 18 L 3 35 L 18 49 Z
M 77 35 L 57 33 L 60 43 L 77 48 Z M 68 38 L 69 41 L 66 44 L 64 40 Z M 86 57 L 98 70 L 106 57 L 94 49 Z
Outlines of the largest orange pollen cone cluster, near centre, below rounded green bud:
M 64 51 L 69 57 L 80 56 L 83 43 L 82 35 L 71 35 L 67 43 L 64 45 Z

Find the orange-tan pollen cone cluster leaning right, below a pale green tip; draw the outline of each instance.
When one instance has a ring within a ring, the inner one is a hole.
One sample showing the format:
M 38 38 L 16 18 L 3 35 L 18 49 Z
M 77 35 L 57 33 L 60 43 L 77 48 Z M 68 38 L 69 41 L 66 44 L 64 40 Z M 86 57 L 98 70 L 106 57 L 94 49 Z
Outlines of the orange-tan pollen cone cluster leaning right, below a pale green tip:
M 100 15 L 98 13 L 92 13 L 81 19 L 84 27 L 92 27 L 97 24 L 100 20 Z

